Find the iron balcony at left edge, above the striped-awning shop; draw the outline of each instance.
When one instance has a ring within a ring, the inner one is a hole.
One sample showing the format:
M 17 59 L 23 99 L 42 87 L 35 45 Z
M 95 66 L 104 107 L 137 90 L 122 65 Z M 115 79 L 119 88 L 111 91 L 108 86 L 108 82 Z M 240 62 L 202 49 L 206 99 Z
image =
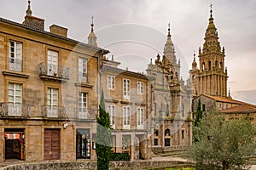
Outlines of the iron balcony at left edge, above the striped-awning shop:
M 2 103 L 1 116 L 30 116 L 30 105 Z

